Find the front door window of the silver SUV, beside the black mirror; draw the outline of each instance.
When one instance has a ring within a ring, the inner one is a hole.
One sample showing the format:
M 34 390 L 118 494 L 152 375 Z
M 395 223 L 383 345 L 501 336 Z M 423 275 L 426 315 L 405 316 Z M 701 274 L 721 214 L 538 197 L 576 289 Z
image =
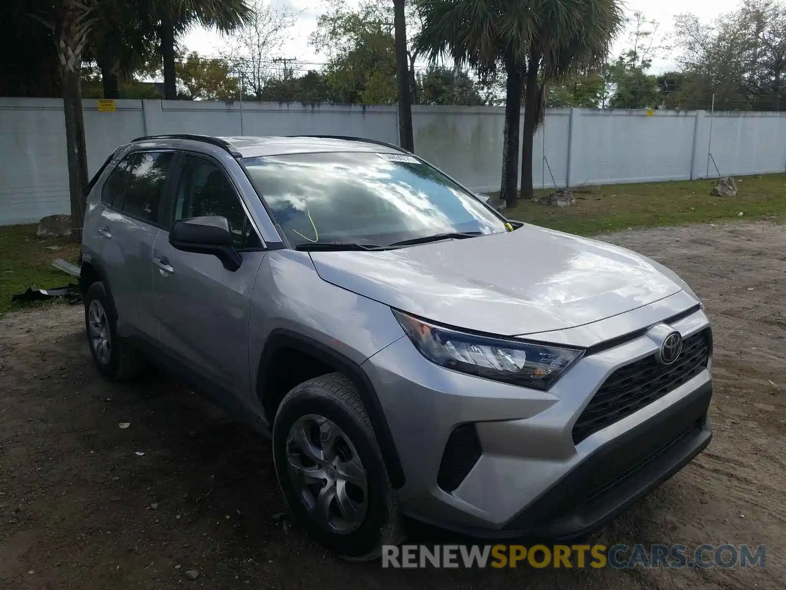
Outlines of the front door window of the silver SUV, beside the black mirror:
M 203 216 L 226 217 L 237 249 L 262 245 L 222 169 L 210 160 L 186 155 L 174 201 L 173 219 Z

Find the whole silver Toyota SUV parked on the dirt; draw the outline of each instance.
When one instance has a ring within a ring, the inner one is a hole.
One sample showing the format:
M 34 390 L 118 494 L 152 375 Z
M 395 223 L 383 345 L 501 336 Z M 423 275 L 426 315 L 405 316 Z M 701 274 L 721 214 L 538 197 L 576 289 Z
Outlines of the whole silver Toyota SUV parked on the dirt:
M 139 138 L 89 190 L 98 370 L 156 363 L 272 437 L 288 507 L 340 555 L 399 543 L 403 517 L 584 537 L 710 441 L 685 282 L 395 146 Z

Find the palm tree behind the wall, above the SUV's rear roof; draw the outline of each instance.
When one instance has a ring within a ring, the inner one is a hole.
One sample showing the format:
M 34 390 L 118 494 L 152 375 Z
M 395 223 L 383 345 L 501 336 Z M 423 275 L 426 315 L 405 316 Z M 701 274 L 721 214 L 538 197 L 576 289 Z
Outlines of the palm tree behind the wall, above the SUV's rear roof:
M 174 68 L 175 41 L 193 24 L 232 31 L 253 12 L 246 0 L 147 0 L 149 15 L 158 23 L 163 59 L 164 98 L 178 98 Z

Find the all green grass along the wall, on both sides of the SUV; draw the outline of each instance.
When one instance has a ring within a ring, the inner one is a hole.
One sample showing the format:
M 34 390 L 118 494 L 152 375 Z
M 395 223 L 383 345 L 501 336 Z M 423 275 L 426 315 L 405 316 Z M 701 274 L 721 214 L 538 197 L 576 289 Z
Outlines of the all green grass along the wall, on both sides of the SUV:
M 580 235 L 732 219 L 786 221 L 786 174 L 736 180 L 740 194 L 730 198 L 711 197 L 711 180 L 586 186 L 574 189 L 575 207 L 559 209 L 526 201 L 505 211 L 505 216 Z M 20 308 L 11 297 L 28 286 L 46 289 L 73 282 L 51 264 L 55 258 L 75 262 L 78 254 L 79 245 L 68 238 L 36 238 L 35 225 L 0 227 L 0 314 Z

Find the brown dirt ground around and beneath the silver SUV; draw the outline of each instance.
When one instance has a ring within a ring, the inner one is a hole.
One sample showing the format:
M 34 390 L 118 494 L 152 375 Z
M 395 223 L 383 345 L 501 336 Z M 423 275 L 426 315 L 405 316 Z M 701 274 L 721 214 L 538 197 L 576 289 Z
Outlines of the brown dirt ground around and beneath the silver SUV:
M 703 297 L 714 439 L 594 540 L 766 544 L 764 569 L 344 562 L 281 520 L 270 444 L 161 374 L 103 381 L 82 309 L 58 305 L 0 319 L 0 588 L 786 588 L 786 227 L 606 239 L 674 268 Z

